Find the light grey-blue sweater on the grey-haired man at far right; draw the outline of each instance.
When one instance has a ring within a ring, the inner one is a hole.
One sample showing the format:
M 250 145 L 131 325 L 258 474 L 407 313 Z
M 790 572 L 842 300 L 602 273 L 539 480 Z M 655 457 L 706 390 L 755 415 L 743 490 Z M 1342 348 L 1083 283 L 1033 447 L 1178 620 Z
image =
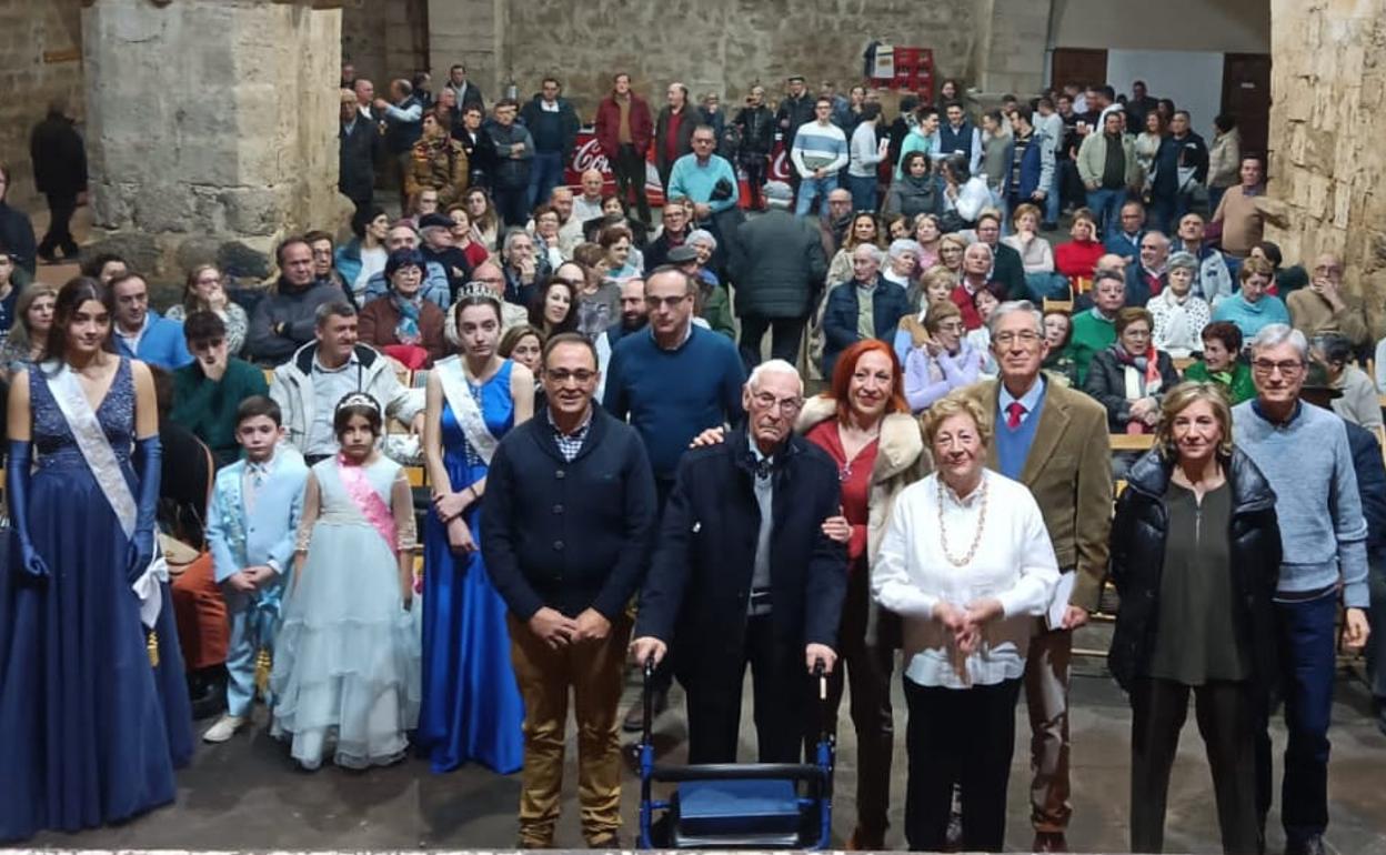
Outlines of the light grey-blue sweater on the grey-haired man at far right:
M 1342 579 L 1343 604 L 1367 608 L 1367 518 L 1343 420 L 1301 403 L 1275 424 L 1256 403 L 1232 407 L 1232 437 L 1275 491 L 1278 593 L 1329 590 Z

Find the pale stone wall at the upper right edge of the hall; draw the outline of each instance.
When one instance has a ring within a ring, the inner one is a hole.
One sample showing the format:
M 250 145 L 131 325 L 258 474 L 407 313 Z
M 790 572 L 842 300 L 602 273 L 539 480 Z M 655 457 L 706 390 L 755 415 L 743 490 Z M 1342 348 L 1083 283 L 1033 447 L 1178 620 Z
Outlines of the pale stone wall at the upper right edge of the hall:
M 1271 0 L 1268 195 L 1286 261 L 1340 252 L 1380 326 L 1386 301 L 1386 0 Z

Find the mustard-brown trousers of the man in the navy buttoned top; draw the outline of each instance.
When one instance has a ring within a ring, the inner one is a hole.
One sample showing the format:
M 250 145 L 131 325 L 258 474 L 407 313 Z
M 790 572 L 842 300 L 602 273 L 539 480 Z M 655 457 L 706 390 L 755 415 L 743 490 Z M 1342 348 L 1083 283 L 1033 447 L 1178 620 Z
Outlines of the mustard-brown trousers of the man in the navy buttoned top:
M 621 827 L 621 739 L 617 704 L 631 621 L 611 624 L 603 642 L 552 650 L 514 615 L 510 661 L 524 698 L 524 769 L 520 773 L 520 844 L 553 848 L 563 790 L 568 690 L 578 722 L 578 801 L 582 836 L 606 843 Z

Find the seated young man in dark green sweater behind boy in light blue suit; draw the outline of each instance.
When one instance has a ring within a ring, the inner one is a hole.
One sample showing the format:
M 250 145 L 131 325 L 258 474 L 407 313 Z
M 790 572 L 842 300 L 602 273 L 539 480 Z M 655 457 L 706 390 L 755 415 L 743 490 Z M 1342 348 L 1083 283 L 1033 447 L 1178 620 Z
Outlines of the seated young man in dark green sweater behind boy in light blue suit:
M 183 321 L 193 363 L 173 371 L 169 413 L 212 450 L 222 467 L 240 456 L 236 409 L 252 395 L 269 395 L 265 373 L 230 355 L 226 324 L 215 312 L 193 312 Z

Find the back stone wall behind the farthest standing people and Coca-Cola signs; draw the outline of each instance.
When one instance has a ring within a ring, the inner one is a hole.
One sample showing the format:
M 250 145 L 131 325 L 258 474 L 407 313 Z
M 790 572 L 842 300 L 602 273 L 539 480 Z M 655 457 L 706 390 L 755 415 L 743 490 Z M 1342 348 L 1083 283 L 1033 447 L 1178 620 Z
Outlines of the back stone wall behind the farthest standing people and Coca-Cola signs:
M 1010 0 L 1021 3 L 1024 0 Z M 753 83 L 776 97 L 789 73 L 845 89 L 875 39 L 931 47 L 942 76 L 974 78 L 979 18 L 969 0 L 431 0 L 437 75 L 462 58 L 488 98 L 514 79 L 528 98 L 556 75 L 584 118 L 613 72 L 657 93 L 682 80 L 694 96 L 742 101 Z

